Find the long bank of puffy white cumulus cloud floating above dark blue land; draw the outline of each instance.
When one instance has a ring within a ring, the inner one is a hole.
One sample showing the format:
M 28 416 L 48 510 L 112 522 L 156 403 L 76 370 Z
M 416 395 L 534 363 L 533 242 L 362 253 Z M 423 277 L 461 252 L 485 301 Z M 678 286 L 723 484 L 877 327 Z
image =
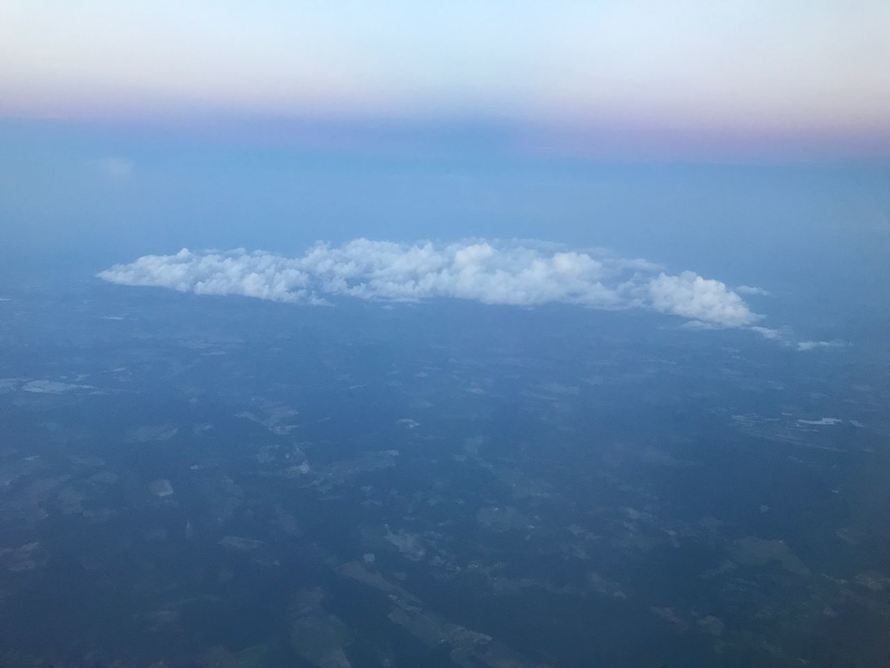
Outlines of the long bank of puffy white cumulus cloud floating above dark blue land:
M 241 295 L 296 304 L 328 297 L 483 304 L 643 308 L 709 327 L 751 328 L 763 316 L 721 281 L 665 273 L 642 259 L 578 252 L 537 241 L 417 244 L 357 239 L 318 243 L 302 257 L 243 248 L 147 255 L 98 274 L 104 281 L 198 295 Z M 764 328 L 756 328 L 764 329 Z

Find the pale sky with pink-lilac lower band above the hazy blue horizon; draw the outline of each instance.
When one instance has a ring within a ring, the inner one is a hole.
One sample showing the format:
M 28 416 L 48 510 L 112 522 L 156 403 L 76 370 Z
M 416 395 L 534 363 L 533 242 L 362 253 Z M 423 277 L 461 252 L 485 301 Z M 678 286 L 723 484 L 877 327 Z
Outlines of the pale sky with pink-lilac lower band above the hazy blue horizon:
M 531 152 L 886 158 L 887 62 L 885 0 L 0 5 L 4 118 L 262 118 L 273 141 L 472 126 Z

